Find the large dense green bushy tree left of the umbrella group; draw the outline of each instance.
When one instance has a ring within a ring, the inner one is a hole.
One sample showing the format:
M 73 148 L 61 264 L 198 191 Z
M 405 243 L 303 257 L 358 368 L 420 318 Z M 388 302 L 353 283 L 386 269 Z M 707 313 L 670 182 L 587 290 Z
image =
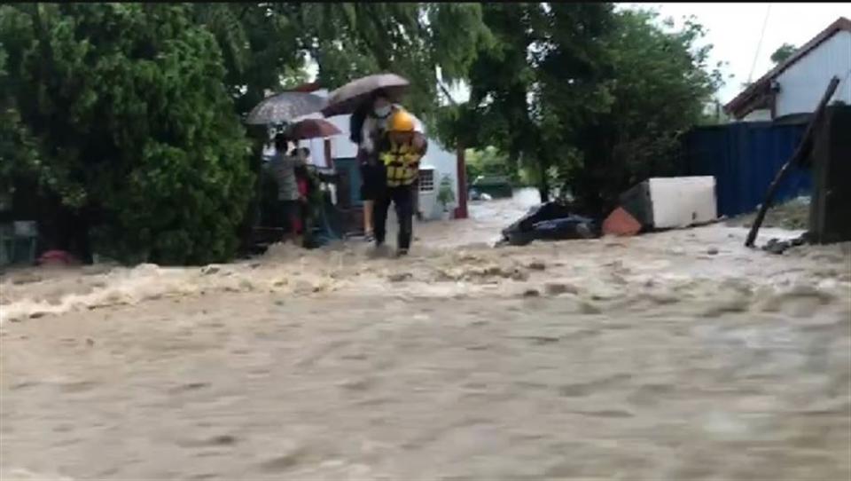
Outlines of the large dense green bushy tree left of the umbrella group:
M 0 7 L 11 95 L 60 211 L 104 254 L 163 264 L 232 256 L 252 183 L 215 36 L 174 4 Z M 96 222 L 97 221 L 97 222 Z

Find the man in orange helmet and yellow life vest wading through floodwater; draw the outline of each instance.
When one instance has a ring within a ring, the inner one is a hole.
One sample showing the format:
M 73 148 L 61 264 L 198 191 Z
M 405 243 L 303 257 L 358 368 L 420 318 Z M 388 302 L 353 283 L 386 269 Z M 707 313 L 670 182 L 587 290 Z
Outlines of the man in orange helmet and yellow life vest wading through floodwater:
M 405 256 L 413 235 L 414 188 L 418 183 L 419 161 L 426 150 L 426 140 L 420 136 L 415 141 L 416 121 L 405 110 L 395 111 L 387 123 L 386 134 L 376 149 L 385 185 L 375 203 L 375 243 L 378 248 L 384 245 L 387 210 L 392 202 L 399 219 L 398 254 Z

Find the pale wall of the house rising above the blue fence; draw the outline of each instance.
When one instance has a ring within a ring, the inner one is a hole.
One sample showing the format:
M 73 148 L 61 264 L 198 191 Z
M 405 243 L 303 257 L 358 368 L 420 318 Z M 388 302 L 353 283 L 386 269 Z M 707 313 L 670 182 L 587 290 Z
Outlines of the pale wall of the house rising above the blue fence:
M 777 75 L 780 92 L 777 94 L 776 117 L 815 111 L 824 89 L 834 75 L 845 80 L 839 84 L 833 99 L 851 105 L 851 79 L 847 78 L 849 70 L 851 32 L 842 30 Z

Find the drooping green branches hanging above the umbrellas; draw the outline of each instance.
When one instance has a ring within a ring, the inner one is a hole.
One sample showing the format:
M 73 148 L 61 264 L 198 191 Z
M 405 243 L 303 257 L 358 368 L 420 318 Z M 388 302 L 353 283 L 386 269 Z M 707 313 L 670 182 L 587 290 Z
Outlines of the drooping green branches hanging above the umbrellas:
M 433 123 L 437 68 L 445 82 L 465 78 L 489 33 L 480 4 L 193 4 L 194 19 L 213 31 L 225 53 L 225 83 L 246 114 L 266 90 L 306 80 L 334 88 L 356 77 L 393 71 L 412 79 L 406 105 Z

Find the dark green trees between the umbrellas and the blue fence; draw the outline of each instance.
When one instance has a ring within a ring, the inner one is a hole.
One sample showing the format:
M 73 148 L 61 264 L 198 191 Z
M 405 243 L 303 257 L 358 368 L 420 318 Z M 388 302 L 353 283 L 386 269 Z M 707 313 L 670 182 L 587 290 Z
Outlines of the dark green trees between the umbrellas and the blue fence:
M 721 83 L 693 19 L 663 29 L 654 12 L 612 4 L 483 4 L 494 42 L 470 69 L 471 98 L 441 109 L 440 132 L 496 146 L 512 171 L 610 209 L 644 177 L 675 171 L 678 136 L 705 122 Z

